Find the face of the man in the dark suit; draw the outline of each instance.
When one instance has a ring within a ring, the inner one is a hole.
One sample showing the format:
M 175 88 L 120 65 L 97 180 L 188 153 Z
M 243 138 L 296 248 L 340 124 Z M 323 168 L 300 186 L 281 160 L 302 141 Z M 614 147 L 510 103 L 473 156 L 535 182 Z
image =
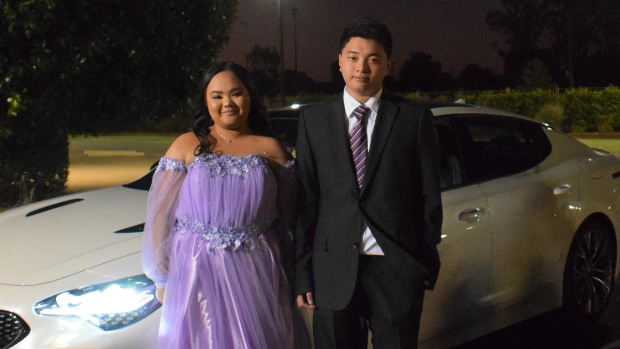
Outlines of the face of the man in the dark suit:
M 342 48 L 338 63 L 347 92 L 362 103 L 379 92 L 391 66 L 378 42 L 360 37 L 352 37 Z

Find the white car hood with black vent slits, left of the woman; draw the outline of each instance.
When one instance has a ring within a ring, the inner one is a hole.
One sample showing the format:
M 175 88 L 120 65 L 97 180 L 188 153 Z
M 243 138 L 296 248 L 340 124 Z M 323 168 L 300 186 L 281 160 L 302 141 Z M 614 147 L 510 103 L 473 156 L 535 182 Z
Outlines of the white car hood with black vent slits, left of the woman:
M 147 197 L 112 187 L 0 213 L 0 283 L 47 283 L 139 252 Z

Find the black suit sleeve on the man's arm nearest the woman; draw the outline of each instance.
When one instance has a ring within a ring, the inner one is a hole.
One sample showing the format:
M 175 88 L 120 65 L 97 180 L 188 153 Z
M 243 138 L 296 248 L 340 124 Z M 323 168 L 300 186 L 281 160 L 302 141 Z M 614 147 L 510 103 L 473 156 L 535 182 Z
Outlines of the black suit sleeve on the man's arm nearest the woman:
M 308 139 L 308 128 L 304 113 L 299 115 L 296 161 L 298 166 L 298 185 L 296 206 L 298 212 L 295 229 L 295 293 L 314 292 L 312 275 L 312 250 L 316 229 L 319 181 L 316 162 Z

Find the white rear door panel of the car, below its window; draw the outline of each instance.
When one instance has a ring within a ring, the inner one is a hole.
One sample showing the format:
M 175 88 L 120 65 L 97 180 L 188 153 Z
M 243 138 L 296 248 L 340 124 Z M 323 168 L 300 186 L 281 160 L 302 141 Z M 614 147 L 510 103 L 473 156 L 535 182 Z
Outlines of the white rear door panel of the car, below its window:
M 548 287 L 578 206 L 574 164 L 480 183 L 489 200 L 492 265 L 489 298 L 498 311 Z M 510 195 L 506 195 L 506 193 Z

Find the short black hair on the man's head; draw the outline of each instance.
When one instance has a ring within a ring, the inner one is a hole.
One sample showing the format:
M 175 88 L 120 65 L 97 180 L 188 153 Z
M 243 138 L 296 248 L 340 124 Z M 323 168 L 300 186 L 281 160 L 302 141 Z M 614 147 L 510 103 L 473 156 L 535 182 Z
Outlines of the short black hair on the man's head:
M 389 29 L 387 29 L 383 23 L 368 17 L 354 19 L 353 22 L 349 23 L 347 27 L 342 30 L 342 35 L 340 36 L 340 50 L 342 51 L 349 40 L 354 37 L 376 41 L 383 47 L 383 50 L 386 51 L 387 58 L 391 58 L 392 33 L 389 32 Z

